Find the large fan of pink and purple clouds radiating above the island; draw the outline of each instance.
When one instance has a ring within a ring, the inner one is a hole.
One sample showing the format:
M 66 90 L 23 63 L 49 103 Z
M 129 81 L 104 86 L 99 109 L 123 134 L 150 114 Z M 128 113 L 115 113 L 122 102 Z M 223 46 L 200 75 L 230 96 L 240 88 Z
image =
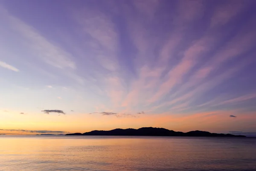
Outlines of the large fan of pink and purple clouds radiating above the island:
M 212 13 L 208 14 L 207 6 L 201 0 L 178 2 L 175 4 L 177 10 L 163 19 L 172 20 L 172 23 L 163 26 L 161 32 L 159 26 L 163 23 L 157 19 L 161 18 L 157 12 L 160 12 L 163 2 L 150 2 L 145 6 L 132 1 L 133 6 L 121 5 L 119 7 L 122 10 L 107 14 L 94 6 L 94 12 L 82 10 L 75 15 L 84 34 L 90 35 L 91 54 L 112 54 L 111 58 L 107 58 L 116 66 L 115 70 L 105 67 L 110 71 L 108 74 L 94 75 L 100 80 L 104 78 L 104 81 L 100 81 L 104 86 L 99 87 L 111 99 L 112 107 L 130 112 L 134 112 L 132 108 L 139 106 L 151 107 L 151 112 L 182 111 L 199 101 L 204 93 L 236 76 L 250 64 L 250 57 L 242 60 L 240 55 L 249 52 L 256 40 L 253 30 L 248 29 L 253 26 L 252 18 L 245 20 L 244 25 L 238 29 L 232 30 L 233 35 L 229 35 L 230 29 L 223 27 L 233 22 L 238 14 L 242 14 L 249 3 L 214 5 Z M 186 6 L 189 6 L 189 11 Z M 227 9 L 227 12 L 221 9 Z M 90 14 L 81 19 L 79 16 L 84 13 Z M 129 68 L 132 72 L 128 72 L 126 68 L 119 70 L 122 61 L 118 54 L 124 47 L 119 26 L 114 22 L 116 14 L 127 24 L 125 32 L 130 36 L 129 43 L 132 44 L 129 48 L 132 53 L 127 54 L 134 58 L 127 58 L 125 62 L 132 65 Z M 208 17 L 208 23 L 204 22 L 204 15 Z M 202 26 L 203 31 L 196 32 L 194 24 Z M 166 32 L 165 29 L 172 31 Z M 154 36 L 159 32 L 163 34 Z M 189 37 L 192 32 L 196 33 Z M 241 62 L 229 65 L 233 60 Z M 124 79 L 127 75 L 130 77 Z M 220 99 L 218 102 L 224 100 Z M 209 101 L 204 101 L 204 107 L 209 106 Z M 203 106 L 199 104 L 197 107 Z

